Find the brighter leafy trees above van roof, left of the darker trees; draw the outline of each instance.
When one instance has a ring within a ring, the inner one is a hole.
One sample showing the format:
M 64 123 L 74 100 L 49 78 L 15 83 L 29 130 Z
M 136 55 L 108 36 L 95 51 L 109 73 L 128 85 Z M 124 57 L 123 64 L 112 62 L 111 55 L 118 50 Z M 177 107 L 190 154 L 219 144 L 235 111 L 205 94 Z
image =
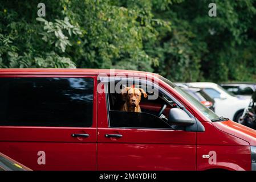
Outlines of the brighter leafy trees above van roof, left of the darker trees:
M 3 2 L 0 65 L 3 68 L 122 68 L 153 71 L 156 57 L 144 50 L 155 40 L 151 1 Z M 25 12 L 25 13 L 24 13 Z

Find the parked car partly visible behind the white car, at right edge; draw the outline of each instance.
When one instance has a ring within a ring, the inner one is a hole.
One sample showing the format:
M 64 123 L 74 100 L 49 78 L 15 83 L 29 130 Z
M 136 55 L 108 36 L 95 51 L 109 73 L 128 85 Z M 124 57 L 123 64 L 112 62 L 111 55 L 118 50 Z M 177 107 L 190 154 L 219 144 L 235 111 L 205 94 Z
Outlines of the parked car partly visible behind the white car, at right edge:
M 237 96 L 251 97 L 253 92 L 256 91 L 256 83 L 249 82 L 233 82 L 220 84 L 224 89 Z

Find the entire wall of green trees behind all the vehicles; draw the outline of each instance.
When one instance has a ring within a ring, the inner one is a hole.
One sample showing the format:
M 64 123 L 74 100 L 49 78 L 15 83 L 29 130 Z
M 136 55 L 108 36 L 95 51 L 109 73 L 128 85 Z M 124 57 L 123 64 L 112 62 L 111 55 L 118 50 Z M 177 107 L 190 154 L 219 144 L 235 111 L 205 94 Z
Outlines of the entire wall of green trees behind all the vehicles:
M 256 0 L 0 3 L 0 68 L 120 68 L 173 81 L 255 81 Z M 209 17 L 209 3 L 217 17 Z

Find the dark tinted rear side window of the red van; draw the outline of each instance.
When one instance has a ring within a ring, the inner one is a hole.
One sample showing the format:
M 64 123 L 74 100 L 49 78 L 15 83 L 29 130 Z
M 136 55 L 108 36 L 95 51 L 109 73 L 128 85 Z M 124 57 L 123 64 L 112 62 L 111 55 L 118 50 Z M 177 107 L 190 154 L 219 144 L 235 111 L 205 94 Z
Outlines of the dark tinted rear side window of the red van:
M 92 125 L 93 78 L 0 78 L 0 125 Z

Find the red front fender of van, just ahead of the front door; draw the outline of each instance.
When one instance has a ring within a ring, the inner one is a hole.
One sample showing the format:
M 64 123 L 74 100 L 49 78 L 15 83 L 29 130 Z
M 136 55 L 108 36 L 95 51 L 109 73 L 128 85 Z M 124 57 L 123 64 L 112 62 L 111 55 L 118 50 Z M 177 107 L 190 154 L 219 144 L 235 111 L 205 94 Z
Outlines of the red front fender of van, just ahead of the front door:
M 205 131 L 197 133 L 197 169 L 251 170 L 250 144 L 214 123 L 221 122 L 202 122 Z

